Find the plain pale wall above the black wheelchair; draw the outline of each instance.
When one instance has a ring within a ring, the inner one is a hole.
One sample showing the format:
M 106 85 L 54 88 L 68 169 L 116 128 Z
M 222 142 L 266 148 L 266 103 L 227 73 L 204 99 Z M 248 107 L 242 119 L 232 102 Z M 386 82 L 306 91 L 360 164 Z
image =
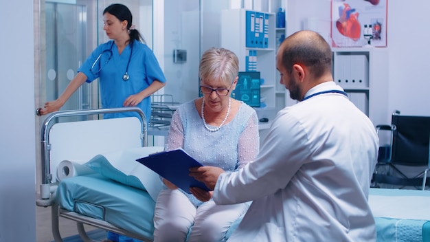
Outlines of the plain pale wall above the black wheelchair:
M 430 1 L 389 1 L 389 113 L 430 115 Z

